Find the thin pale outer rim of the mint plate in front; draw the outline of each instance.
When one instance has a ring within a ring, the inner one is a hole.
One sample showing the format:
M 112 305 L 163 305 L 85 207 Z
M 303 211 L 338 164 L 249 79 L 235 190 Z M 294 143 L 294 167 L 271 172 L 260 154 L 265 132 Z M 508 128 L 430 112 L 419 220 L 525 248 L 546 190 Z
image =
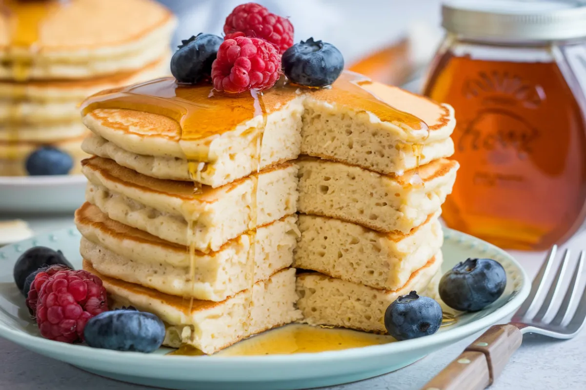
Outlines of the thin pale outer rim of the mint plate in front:
M 8 248 L 15 247 L 16 245 L 25 246 L 25 243 L 32 244 L 33 240 L 38 240 L 39 237 L 50 237 L 51 235 L 57 235 L 60 233 L 67 234 L 71 237 L 79 237 L 72 234 L 72 229 L 75 230 L 75 225 L 71 227 L 62 228 L 53 232 L 46 232 L 44 234 L 36 235 L 35 237 L 16 242 L 15 244 L 6 245 L 4 248 L 0 248 L 0 252 L 6 251 Z M 327 360 L 330 362 L 334 361 L 346 361 L 354 360 L 360 357 L 376 357 L 379 355 L 387 354 L 400 354 L 406 350 L 417 350 L 421 348 L 431 347 L 432 345 L 445 344 L 454 340 L 461 340 L 464 337 L 468 337 L 473 333 L 481 331 L 483 329 L 498 323 L 506 316 L 513 314 L 523 303 L 531 289 L 531 283 L 527 272 L 523 269 L 522 265 L 515 259 L 515 257 L 509 252 L 496 247 L 496 245 L 490 244 L 479 238 L 473 237 L 472 235 L 452 230 L 447 227 L 442 227 L 446 238 L 448 240 L 456 242 L 456 245 L 461 244 L 465 241 L 476 241 L 482 243 L 490 249 L 490 251 L 496 251 L 501 256 L 507 258 L 508 261 L 515 266 L 515 269 L 520 274 L 521 285 L 517 290 L 515 296 L 509 301 L 505 302 L 502 306 L 498 307 L 494 312 L 487 314 L 477 320 L 472 320 L 462 326 L 447 329 L 445 331 L 431 334 L 430 336 L 414 338 L 411 340 L 403 340 L 400 342 L 381 344 L 381 345 L 369 345 L 367 347 L 348 348 L 343 351 L 324 351 L 319 353 L 299 353 L 299 354 L 283 354 L 283 355 L 252 355 L 252 356 L 182 356 L 182 355 L 165 355 L 165 354 L 144 354 L 139 352 L 128 352 L 128 351 L 114 351 L 100 349 L 96 351 L 96 348 L 88 347 L 87 345 L 80 344 L 66 344 L 60 343 L 59 341 L 47 340 L 46 338 L 34 336 L 21 330 L 13 330 L 7 327 L 2 321 L 0 321 L 0 337 L 4 337 L 13 343 L 19 344 L 35 353 L 40 353 L 42 350 L 59 350 L 59 354 L 63 357 L 78 357 L 83 354 L 83 351 L 87 351 L 87 348 L 91 348 L 94 351 L 92 354 L 94 360 L 108 360 L 108 362 L 115 363 L 121 362 L 125 365 L 138 366 L 143 364 L 158 364 L 160 362 L 172 362 L 172 364 L 190 364 L 192 365 L 194 359 L 197 359 L 197 363 L 203 366 L 199 368 L 206 368 L 206 366 L 212 367 L 217 364 L 230 364 L 231 367 L 246 368 L 250 365 L 264 364 L 284 364 L 295 361 L 303 362 L 315 362 Z M 461 237 L 461 240 L 456 240 L 454 237 Z M 464 336 L 462 336 L 464 334 Z M 56 348 L 57 345 L 59 348 Z M 100 358 L 96 357 L 96 352 L 100 355 Z M 52 354 L 50 357 L 53 357 Z M 62 360 L 59 357 L 53 357 L 57 360 Z M 64 360 L 62 360 L 64 361 Z M 81 363 L 80 363 L 81 365 Z

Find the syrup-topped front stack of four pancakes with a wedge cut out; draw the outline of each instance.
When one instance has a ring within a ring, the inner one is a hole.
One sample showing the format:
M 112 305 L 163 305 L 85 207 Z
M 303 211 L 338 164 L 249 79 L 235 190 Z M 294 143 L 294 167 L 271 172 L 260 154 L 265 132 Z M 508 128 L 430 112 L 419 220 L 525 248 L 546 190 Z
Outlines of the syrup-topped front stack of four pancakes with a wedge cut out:
M 350 72 L 211 88 L 163 78 L 82 106 L 94 156 L 76 223 L 113 306 L 211 354 L 292 321 L 384 332 L 395 297 L 434 289 L 451 107 Z

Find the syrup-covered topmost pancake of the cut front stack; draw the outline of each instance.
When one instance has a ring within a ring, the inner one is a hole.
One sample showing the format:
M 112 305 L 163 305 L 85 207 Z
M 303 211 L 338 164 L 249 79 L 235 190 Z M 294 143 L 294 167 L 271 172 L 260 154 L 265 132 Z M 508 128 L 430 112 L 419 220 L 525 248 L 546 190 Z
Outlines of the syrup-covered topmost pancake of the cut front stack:
M 204 162 L 196 180 L 212 186 L 253 172 L 261 134 L 261 167 L 282 159 L 279 152 L 286 150 L 291 159 L 301 150 L 390 174 L 454 152 L 451 107 L 350 72 L 331 88 L 280 81 L 257 98 L 214 94 L 210 85 L 182 87 L 163 78 L 96 94 L 82 113 L 88 128 L 108 141 L 84 150 L 137 170 L 146 162 L 142 173 L 176 180 L 190 180 L 186 160 Z M 169 177 L 171 167 L 149 170 L 167 166 L 169 159 L 183 160 L 173 166 L 183 173 Z

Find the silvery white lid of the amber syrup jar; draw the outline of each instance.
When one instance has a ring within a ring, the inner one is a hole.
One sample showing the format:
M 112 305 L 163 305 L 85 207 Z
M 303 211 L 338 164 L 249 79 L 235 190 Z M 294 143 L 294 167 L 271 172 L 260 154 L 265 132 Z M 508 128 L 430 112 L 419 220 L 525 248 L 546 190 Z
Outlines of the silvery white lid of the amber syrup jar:
M 586 37 L 584 0 L 447 0 L 442 26 L 468 39 L 544 42 Z

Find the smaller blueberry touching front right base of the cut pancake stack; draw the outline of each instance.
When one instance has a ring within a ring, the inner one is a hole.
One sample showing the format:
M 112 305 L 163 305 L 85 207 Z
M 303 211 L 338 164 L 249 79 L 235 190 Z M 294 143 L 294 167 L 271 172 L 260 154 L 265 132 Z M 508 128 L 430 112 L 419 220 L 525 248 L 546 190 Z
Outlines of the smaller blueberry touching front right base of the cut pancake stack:
M 384 312 L 384 327 L 399 341 L 434 334 L 441 321 L 440 304 L 415 291 L 398 297 Z

